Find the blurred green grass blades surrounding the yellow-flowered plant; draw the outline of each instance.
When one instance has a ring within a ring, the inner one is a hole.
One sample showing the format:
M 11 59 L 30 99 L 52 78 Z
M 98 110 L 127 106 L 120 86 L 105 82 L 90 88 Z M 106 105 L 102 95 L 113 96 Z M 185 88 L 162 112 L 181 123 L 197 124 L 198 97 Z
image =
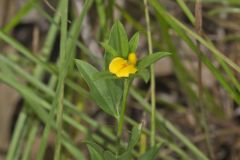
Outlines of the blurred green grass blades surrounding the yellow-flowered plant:
M 98 19 L 98 21 L 94 27 L 94 33 L 96 34 L 93 38 L 95 38 L 94 41 L 99 45 L 98 47 L 101 47 L 100 42 L 106 42 L 110 26 L 114 22 L 113 11 L 118 11 L 120 12 L 124 26 L 130 26 L 131 31 L 139 32 L 140 37 L 149 42 L 149 53 L 153 53 L 153 50 L 163 50 L 172 53 L 170 59 L 174 74 L 177 77 L 179 88 L 186 98 L 186 105 L 195 107 L 198 103 L 197 92 L 189 85 L 189 83 L 197 85 L 197 78 L 183 65 L 182 59 L 179 56 L 179 50 L 175 45 L 176 37 L 184 42 L 192 50 L 193 54 L 199 57 L 201 62 L 218 81 L 220 87 L 228 94 L 230 100 L 238 105 L 240 104 L 240 83 L 236 76 L 240 72 L 239 65 L 221 53 L 206 34 L 199 36 L 193 31 L 195 17 L 185 1 L 177 0 L 176 4 L 179 5 L 179 9 L 188 18 L 190 24 L 185 24 L 185 22 L 174 17 L 157 0 L 148 1 L 148 7 L 151 10 L 149 12 L 146 11 L 150 15 L 146 15 L 145 18 L 143 2 L 141 4 L 133 2 L 141 10 L 143 19 L 150 18 L 146 23 L 147 29 L 146 25 L 140 23 L 134 15 L 131 15 L 131 11 L 118 6 L 114 1 L 110 1 L 108 4 L 103 2 L 103 0 L 84 1 L 83 9 L 78 16 L 76 8 L 68 5 L 67 0 L 60 0 L 54 16 L 50 16 L 39 3 L 29 0 L 9 23 L 0 29 L 0 39 L 4 42 L 2 45 L 8 45 L 19 52 L 19 54 L 16 54 L 1 51 L 0 82 L 15 89 L 24 99 L 23 109 L 19 113 L 6 155 L 7 160 L 28 160 L 37 137 L 40 137 L 41 143 L 36 159 L 44 159 L 50 133 L 56 135 L 56 143 L 54 145 L 54 157 L 56 160 L 60 159 L 60 157 L 62 159 L 67 159 L 66 157 L 74 157 L 74 159 L 80 160 L 88 159 L 85 153 L 86 149 L 83 149 L 87 148 L 86 144 L 82 142 L 80 144 L 76 143 L 74 139 L 76 134 L 82 135 L 84 140 L 92 139 L 109 151 L 116 152 L 119 149 L 115 145 L 116 140 L 119 138 L 119 135 L 116 135 L 115 127 L 109 126 L 107 122 L 99 121 L 91 117 L 91 114 L 88 112 L 85 112 L 88 106 L 84 102 L 93 101 L 93 97 L 91 97 L 88 89 L 86 89 L 86 84 L 74 67 L 75 58 L 89 61 L 95 64 L 95 66 L 103 65 L 104 58 L 102 54 L 93 53 L 89 49 L 89 44 L 85 44 L 83 39 L 79 38 L 82 34 L 84 19 L 88 16 L 89 20 L 89 16 L 91 15 L 89 11 L 94 12 L 94 7 L 97 9 L 95 11 L 97 14 L 93 18 Z M 69 6 L 69 8 L 66 6 Z M 21 42 L 17 41 L 10 34 L 21 23 L 22 18 L 31 10 L 37 10 L 50 24 L 48 32 L 44 36 L 39 54 L 32 53 L 29 48 L 23 46 Z M 237 12 L 238 10 L 234 9 L 234 7 L 222 10 L 217 8 L 209 12 L 209 16 L 214 16 L 222 11 L 227 13 Z M 70 17 L 69 13 L 73 19 L 71 23 L 68 20 Z M 171 34 L 170 31 L 175 34 Z M 57 34 L 60 34 L 60 53 L 57 62 L 53 63 L 49 61 L 49 58 L 52 54 Z M 151 34 L 153 34 L 153 38 L 151 38 Z M 161 44 L 159 44 L 159 39 L 156 39 L 154 35 L 160 37 Z M 209 59 L 206 53 L 199 50 L 195 41 L 198 41 L 208 50 L 209 54 L 211 54 L 220 67 L 215 66 L 212 63 L 212 59 Z M 126 47 L 123 47 L 123 50 L 125 49 Z M 139 50 L 139 52 L 142 51 Z M 99 54 L 100 58 L 96 58 L 96 54 Z M 28 63 L 31 71 L 27 71 L 26 65 L 21 63 L 23 61 Z M 50 75 L 50 80 L 48 83 L 43 83 L 46 73 Z M 153 68 L 151 69 L 151 78 L 155 79 Z M 24 80 L 24 83 L 19 81 L 19 79 Z M 151 83 L 155 82 L 151 81 Z M 155 103 L 154 98 L 158 102 L 159 99 L 155 97 L 154 87 L 151 88 L 151 91 L 153 94 L 153 103 Z M 147 91 L 140 91 L 138 88 L 131 88 L 129 91 L 130 97 L 136 101 L 137 108 L 145 112 L 148 116 L 152 114 L 150 123 L 152 127 L 143 125 L 142 132 L 151 137 L 152 146 L 158 143 L 162 144 L 163 147 L 158 152 L 158 156 L 163 159 L 174 159 L 175 155 L 181 159 L 209 159 L 207 153 L 194 144 L 184 130 L 181 130 L 175 124 L 176 122 L 170 121 L 158 109 L 155 110 L 155 107 L 151 106 L 151 103 L 148 103 L 145 99 L 146 94 Z M 202 103 L 206 111 L 209 114 L 220 114 L 225 117 L 223 110 L 219 109 L 221 104 L 217 104 L 211 90 L 204 88 L 203 95 Z M 83 109 L 80 110 L 77 107 L 77 103 L 73 100 L 73 97 L 77 97 L 77 101 L 81 102 Z M 125 97 L 124 101 L 126 100 L 127 98 Z M 161 100 L 161 98 L 160 101 L 163 102 L 163 105 L 172 107 L 175 112 L 184 113 L 187 111 L 187 106 L 179 105 L 178 102 L 169 103 L 164 99 Z M 156 105 L 159 104 L 157 103 Z M 108 116 L 103 111 L 101 114 Z M 122 118 L 124 118 L 125 123 L 122 122 L 121 124 L 121 131 L 119 131 L 121 135 L 125 131 L 123 128 L 126 124 L 132 128 L 141 123 L 129 116 L 127 112 L 125 113 L 124 111 L 123 114 Z M 42 125 L 44 126 L 43 129 L 41 129 Z M 69 131 L 70 128 L 71 132 Z M 128 135 L 129 132 L 127 131 L 123 134 Z M 148 142 L 150 143 L 150 139 L 148 139 Z M 122 148 L 126 148 L 126 140 L 122 139 L 120 144 Z M 150 148 L 150 145 L 145 147 Z M 163 148 L 168 149 L 170 154 L 165 154 Z M 134 157 L 139 156 L 136 148 L 132 152 L 132 155 Z

